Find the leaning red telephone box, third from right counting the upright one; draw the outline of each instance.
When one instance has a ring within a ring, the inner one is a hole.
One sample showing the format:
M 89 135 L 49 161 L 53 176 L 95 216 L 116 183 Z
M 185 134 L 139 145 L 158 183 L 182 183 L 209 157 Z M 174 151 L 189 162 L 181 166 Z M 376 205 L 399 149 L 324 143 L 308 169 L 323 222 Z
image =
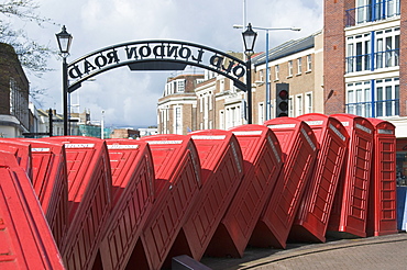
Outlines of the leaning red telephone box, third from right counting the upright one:
M 298 116 L 314 131 L 320 150 L 294 221 L 289 239 L 324 241 L 349 135 L 337 119 L 320 113 Z

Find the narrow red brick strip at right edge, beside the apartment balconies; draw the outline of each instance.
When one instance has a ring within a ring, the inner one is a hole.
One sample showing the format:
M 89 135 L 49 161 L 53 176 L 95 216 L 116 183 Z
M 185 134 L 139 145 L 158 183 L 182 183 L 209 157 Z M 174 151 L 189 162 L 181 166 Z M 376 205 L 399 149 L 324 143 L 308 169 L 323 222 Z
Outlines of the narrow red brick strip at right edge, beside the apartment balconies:
M 400 116 L 407 116 L 407 2 L 400 1 Z

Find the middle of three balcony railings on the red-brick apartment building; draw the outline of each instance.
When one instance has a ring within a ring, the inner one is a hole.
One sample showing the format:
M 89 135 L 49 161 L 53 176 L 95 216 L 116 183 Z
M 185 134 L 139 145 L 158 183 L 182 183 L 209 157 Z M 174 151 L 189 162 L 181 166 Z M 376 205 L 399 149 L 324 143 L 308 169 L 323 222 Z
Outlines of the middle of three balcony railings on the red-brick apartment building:
M 346 74 L 371 70 L 372 57 L 374 57 L 374 68 L 387 68 L 399 66 L 399 49 L 388 49 L 365 55 L 356 55 L 346 57 Z

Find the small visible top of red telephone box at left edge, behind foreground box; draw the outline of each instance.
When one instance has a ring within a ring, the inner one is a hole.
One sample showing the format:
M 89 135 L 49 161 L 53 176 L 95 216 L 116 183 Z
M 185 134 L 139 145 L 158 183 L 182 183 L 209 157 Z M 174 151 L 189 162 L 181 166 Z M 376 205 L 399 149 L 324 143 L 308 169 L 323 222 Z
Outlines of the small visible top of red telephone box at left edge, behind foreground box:
M 29 178 L 33 178 L 30 144 L 16 138 L 0 138 L 0 151 L 12 153 Z

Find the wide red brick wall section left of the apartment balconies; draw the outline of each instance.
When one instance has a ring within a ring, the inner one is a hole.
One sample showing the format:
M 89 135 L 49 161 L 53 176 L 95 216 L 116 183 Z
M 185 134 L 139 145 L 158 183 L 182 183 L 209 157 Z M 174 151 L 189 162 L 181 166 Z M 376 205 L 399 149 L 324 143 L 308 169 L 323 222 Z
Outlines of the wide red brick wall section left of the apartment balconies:
M 324 113 L 345 112 L 345 10 L 354 0 L 324 0 L 323 9 L 323 95 Z

